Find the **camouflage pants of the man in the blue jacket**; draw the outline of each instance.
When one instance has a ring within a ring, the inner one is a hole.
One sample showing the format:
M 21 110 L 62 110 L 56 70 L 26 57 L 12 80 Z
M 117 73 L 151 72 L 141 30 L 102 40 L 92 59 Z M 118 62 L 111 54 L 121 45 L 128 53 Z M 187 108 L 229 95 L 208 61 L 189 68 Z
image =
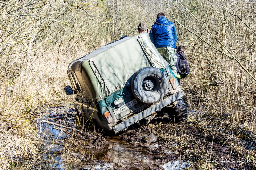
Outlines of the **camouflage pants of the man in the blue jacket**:
M 159 47 L 157 48 L 159 53 L 162 55 L 162 57 L 170 64 L 170 68 L 173 71 L 175 75 L 177 75 L 177 56 L 176 56 L 176 49 L 172 47 Z

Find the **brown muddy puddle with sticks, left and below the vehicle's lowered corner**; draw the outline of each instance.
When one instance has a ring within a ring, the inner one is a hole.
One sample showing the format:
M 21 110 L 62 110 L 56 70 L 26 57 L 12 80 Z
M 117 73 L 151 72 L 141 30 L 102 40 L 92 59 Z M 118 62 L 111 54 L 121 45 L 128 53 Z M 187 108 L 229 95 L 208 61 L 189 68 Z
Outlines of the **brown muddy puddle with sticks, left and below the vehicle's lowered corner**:
M 43 169 L 157 169 L 154 155 L 143 147 L 132 146 L 119 136 L 103 137 L 92 132 L 76 134 L 47 123 L 75 128 L 73 105 L 58 105 L 38 116 L 41 157 L 36 168 Z M 159 165 L 158 165 L 159 166 Z

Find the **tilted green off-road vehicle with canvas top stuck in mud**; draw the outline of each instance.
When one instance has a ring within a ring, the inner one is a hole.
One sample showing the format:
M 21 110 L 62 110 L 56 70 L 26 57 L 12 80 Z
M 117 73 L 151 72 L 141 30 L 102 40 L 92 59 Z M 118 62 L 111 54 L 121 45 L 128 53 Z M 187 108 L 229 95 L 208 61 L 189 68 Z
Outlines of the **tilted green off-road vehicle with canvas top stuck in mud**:
M 147 33 L 98 48 L 72 61 L 67 73 L 72 88 L 65 91 L 74 92 L 77 111 L 106 131 L 149 122 L 161 112 L 175 122 L 187 118 L 184 93 Z

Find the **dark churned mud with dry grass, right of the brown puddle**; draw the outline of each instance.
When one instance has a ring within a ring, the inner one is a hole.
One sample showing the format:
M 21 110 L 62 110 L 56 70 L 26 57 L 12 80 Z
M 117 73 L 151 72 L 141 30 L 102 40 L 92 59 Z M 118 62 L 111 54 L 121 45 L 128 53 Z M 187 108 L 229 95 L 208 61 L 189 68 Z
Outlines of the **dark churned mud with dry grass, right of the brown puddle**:
M 256 136 L 250 135 L 255 141 Z M 245 140 L 195 120 L 172 124 L 167 117 L 160 117 L 121 136 L 134 146 L 147 148 L 159 165 L 177 159 L 190 162 L 191 169 L 255 169 L 256 165 L 255 147 L 252 152 L 245 147 Z

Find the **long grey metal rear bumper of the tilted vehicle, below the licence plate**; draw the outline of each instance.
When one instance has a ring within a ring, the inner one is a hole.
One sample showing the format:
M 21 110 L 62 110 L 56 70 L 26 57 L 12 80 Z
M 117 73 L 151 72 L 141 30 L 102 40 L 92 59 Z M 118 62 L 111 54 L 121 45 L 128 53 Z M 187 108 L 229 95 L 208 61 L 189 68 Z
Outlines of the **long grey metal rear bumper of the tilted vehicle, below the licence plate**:
M 136 123 L 137 121 L 143 119 L 143 118 L 146 118 L 147 116 L 149 116 L 150 114 L 156 112 L 157 110 L 159 109 L 162 109 L 163 107 L 167 106 L 168 104 L 170 103 L 173 103 L 174 101 L 178 100 L 178 99 L 181 99 L 182 97 L 184 96 L 184 93 L 183 91 L 179 91 L 169 97 L 167 97 L 166 99 L 154 104 L 154 105 L 151 105 L 148 109 L 140 112 L 140 113 L 137 113 L 135 114 L 133 117 L 117 124 L 116 126 L 113 127 L 113 131 L 115 133 L 118 133 L 119 131 L 129 127 L 130 125 Z

